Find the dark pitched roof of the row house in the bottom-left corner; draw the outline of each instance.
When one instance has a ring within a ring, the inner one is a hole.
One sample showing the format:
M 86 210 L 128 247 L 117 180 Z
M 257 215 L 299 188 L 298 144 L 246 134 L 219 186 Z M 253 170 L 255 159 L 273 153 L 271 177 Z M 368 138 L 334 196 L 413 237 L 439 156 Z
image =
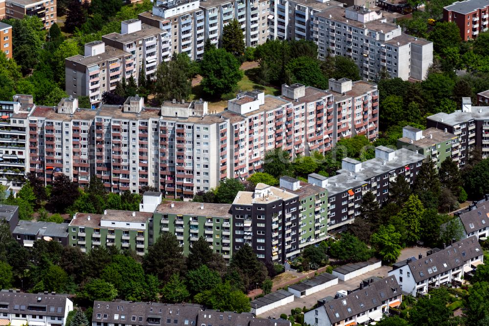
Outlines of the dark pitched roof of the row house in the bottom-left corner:
M 10 292 L 11 290 L 0 291 L 0 302 L 8 306 L 2 312 L 11 314 L 36 314 L 56 317 L 65 316 L 67 294 L 47 294 L 47 293 L 21 293 Z M 29 309 L 35 308 L 34 309 Z M 40 310 L 41 309 L 41 310 Z M 34 312 L 35 311 L 35 312 Z

